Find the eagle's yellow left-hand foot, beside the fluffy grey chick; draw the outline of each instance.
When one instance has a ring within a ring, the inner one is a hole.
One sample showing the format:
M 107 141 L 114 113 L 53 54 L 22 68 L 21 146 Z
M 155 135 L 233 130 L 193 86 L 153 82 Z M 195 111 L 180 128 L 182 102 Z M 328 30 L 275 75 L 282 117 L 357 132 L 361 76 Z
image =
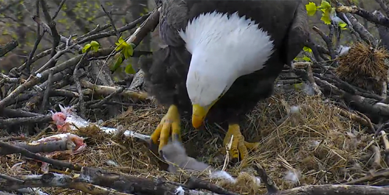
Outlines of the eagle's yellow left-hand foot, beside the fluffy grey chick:
M 181 142 L 180 122 L 178 109 L 175 105 L 169 107 L 168 113 L 163 116 L 161 123 L 151 134 L 151 147 L 158 145 L 158 153 L 161 154 L 161 149 L 168 144 L 169 137 L 172 137 L 172 141 Z

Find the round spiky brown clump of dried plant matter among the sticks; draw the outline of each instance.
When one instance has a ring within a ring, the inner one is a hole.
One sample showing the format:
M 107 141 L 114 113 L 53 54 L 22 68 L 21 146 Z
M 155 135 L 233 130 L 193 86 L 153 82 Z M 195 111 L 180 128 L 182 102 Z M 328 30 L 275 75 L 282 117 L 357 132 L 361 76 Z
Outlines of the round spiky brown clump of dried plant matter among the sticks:
M 381 95 L 383 83 L 388 80 L 388 51 L 383 48 L 372 48 L 366 43 L 355 43 L 347 55 L 339 58 L 336 74 L 340 79 L 365 90 Z

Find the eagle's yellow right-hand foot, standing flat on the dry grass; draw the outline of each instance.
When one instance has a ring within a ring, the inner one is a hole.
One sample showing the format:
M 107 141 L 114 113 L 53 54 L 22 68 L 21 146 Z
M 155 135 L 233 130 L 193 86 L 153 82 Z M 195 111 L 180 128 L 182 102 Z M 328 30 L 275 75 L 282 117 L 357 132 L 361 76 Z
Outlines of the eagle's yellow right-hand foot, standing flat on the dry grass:
M 252 149 L 257 149 L 259 142 L 250 143 L 245 142 L 245 137 L 240 133 L 240 128 L 238 124 L 230 124 L 228 126 L 228 131 L 226 137 L 223 140 L 223 146 L 226 147 L 231 141 L 231 135 L 233 135 L 233 141 L 231 144 L 231 149 L 229 151 L 230 157 L 232 157 L 232 162 L 237 162 L 239 160 L 243 161 L 247 157 L 248 151 Z

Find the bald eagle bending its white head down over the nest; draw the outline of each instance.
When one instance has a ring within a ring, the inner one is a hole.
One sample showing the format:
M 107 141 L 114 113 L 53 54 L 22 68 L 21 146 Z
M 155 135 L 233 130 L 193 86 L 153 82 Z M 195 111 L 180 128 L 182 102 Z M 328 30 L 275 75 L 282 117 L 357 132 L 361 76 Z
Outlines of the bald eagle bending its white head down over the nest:
M 158 151 L 181 141 L 180 117 L 228 122 L 224 146 L 245 159 L 258 143 L 246 142 L 239 122 L 270 97 L 285 64 L 302 50 L 308 23 L 302 0 L 159 0 L 165 43 L 141 68 L 149 93 L 169 107 L 151 144 Z M 160 153 L 161 154 L 161 153 Z

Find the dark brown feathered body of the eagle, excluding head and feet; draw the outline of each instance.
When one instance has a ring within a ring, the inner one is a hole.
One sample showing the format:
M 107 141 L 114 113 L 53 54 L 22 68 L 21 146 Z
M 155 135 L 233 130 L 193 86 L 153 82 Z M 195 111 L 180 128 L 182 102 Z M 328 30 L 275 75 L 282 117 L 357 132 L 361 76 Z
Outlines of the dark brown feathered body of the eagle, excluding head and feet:
M 188 20 L 212 11 L 235 13 L 252 18 L 273 39 L 275 52 L 266 67 L 240 76 L 227 93 L 210 109 L 207 119 L 214 122 L 236 121 L 273 93 L 274 80 L 284 64 L 291 62 L 308 38 L 307 15 L 300 0 L 276 1 L 194 1 L 162 0 L 160 36 L 168 46 L 142 60 L 149 93 L 163 105 L 177 105 L 182 115 L 191 114 L 191 100 L 186 91 L 186 75 L 191 53 L 177 31 Z M 217 75 L 215 75 L 217 76 Z

